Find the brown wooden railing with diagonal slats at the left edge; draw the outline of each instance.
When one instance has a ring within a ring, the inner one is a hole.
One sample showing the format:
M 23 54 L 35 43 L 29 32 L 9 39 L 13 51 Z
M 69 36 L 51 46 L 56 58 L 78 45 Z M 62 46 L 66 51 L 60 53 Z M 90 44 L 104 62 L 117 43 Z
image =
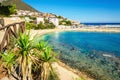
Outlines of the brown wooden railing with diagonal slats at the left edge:
M 15 38 L 18 38 L 20 32 L 24 33 L 25 22 L 14 23 L 14 24 L 9 24 L 7 26 L 3 26 L 2 28 L 0 28 L 0 32 L 2 31 L 4 32 L 4 35 L 0 42 L 0 52 L 2 52 L 3 49 L 7 47 L 7 45 L 9 44 L 10 35 L 13 35 Z

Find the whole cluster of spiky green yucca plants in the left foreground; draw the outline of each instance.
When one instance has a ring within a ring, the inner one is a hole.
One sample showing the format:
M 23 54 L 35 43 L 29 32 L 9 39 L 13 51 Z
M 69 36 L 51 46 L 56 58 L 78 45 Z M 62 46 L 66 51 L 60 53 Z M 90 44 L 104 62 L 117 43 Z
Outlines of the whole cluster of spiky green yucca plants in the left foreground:
M 48 80 L 51 73 L 54 77 L 51 64 L 56 60 L 56 55 L 52 52 L 52 48 L 47 45 L 47 42 L 40 40 L 35 42 L 34 39 L 36 38 L 30 39 L 29 32 L 20 33 L 16 39 L 16 46 L 11 49 L 12 52 L 8 51 L 7 54 L 0 56 L 9 75 L 13 76 L 11 72 L 16 73 L 17 76 L 14 75 L 16 79 Z

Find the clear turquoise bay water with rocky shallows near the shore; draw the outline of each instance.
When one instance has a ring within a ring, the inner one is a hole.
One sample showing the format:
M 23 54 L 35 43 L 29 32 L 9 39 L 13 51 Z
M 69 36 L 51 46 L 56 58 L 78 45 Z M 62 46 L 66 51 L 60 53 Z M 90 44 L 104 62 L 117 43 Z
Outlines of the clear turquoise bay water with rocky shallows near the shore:
M 96 80 L 120 80 L 120 33 L 56 32 L 42 38 L 67 65 Z

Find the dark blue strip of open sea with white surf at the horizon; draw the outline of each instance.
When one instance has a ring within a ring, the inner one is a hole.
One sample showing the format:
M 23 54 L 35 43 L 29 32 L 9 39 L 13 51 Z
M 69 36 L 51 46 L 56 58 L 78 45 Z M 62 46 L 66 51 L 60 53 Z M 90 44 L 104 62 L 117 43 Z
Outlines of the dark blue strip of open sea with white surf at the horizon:
M 120 23 L 81 23 L 85 26 L 120 27 Z

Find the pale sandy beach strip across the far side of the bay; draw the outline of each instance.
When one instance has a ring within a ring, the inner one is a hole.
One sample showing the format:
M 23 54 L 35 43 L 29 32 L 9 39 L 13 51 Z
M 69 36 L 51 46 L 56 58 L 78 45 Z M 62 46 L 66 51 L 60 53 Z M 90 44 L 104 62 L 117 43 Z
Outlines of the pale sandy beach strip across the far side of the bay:
M 120 28 L 108 28 L 108 27 L 83 27 L 83 28 L 68 28 L 68 29 L 44 29 L 44 30 L 30 30 L 31 36 L 39 35 L 42 36 L 52 32 L 64 32 L 64 31 L 79 31 L 79 32 L 109 32 L 109 33 L 120 33 Z

